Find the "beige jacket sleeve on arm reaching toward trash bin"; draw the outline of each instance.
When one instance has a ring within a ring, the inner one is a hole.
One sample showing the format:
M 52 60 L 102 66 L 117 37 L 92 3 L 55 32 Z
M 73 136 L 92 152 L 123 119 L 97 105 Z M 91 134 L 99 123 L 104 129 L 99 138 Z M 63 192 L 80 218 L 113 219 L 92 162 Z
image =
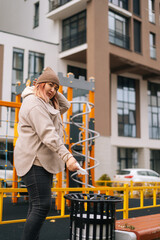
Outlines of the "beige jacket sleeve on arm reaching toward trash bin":
M 57 152 L 59 157 L 66 162 L 72 154 L 63 144 L 47 110 L 41 106 L 36 106 L 29 112 L 28 118 L 43 144 L 51 151 Z

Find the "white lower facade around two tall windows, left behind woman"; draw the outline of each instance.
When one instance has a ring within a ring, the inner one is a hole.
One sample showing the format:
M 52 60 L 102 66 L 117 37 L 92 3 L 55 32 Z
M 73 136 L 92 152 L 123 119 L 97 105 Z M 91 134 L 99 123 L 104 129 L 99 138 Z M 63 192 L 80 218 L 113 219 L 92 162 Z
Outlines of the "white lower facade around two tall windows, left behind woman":
M 13 34 L 0 32 L 0 44 L 4 45 L 4 59 L 3 59 L 3 84 L 2 84 L 2 100 L 11 101 L 11 83 L 12 83 L 12 59 L 13 48 L 20 48 L 24 50 L 24 82 L 28 77 L 28 57 L 29 51 L 43 53 L 44 66 L 52 67 L 55 72 L 58 72 L 58 51 L 57 45 L 47 44 L 33 39 L 18 37 Z M 2 119 L 6 119 L 6 108 L 2 109 Z M 6 125 L 2 124 L 0 128 L 0 135 L 6 133 Z M 13 136 L 13 129 L 9 129 L 9 135 Z

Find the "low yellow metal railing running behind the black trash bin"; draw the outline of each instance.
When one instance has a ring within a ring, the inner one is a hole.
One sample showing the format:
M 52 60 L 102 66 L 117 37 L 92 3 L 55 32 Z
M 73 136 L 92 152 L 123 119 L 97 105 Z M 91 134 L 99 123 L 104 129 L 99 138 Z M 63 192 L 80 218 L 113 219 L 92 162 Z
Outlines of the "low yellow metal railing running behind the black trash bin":
M 56 216 L 49 216 L 46 219 L 56 219 L 56 218 L 66 218 L 69 215 L 65 214 L 65 204 L 66 201 L 64 199 L 64 195 L 67 192 L 100 192 L 105 193 L 106 195 L 110 195 L 109 193 L 113 193 L 114 195 L 117 192 L 123 192 L 123 208 L 117 209 L 117 212 L 123 212 L 123 219 L 127 219 L 129 216 L 129 211 L 139 210 L 139 209 L 146 209 L 146 208 L 154 208 L 160 207 L 160 204 L 157 204 L 157 193 L 160 191 L 160 186 L 129 186 L 128 184 L 124 184 L 123 187 L 96 187 L 96 188 L 52 188 L 52 192 L 61 193 L 61 211 L 60 215 Z M 132 191 L 140 192 L 140 206 L 129 208 L 129 197 Z M 153 191 L 153 204 L 149 206 L 144 206 L 144 191 Z M 26 219 L 17 219 L 17 220 L 7 220 L 3 221 L 3 198 L 6 193 L 21 193 L 27 192 L 26 188 L 0 188 L 0 224 L 7 224 L 7 223 L 17 223 L 17 222 L 25 222 Z

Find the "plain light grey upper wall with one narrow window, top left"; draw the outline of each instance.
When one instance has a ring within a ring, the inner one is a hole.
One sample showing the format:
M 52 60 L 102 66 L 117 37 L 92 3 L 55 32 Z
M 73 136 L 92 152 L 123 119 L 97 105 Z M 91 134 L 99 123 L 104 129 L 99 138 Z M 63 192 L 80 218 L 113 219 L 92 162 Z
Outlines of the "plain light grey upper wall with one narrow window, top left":
M 46 18 L 49 1 L 39 0 L 39 26 L 33 28 L 38 0 L 0 0 L 0 30 L 58 44 L 58 22 Z

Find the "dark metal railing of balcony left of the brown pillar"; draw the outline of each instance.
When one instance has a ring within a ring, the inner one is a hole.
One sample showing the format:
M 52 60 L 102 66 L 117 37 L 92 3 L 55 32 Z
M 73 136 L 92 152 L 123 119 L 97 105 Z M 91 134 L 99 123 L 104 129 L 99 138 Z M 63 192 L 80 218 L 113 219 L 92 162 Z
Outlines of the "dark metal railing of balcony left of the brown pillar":
M 86 43 L 86 30 L 62 39 L 62 51 Z

